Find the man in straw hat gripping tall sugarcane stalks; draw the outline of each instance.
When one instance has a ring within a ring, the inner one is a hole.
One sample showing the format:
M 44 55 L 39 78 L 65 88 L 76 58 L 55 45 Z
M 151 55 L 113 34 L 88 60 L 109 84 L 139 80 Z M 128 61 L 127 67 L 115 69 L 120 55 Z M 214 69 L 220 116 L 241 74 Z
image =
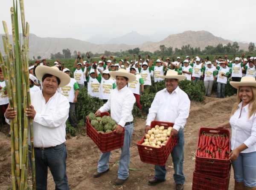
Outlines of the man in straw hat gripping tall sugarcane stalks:
M 49 167 L 55 181 L 55 188 L 68 190 L 67 151 L 64 143 L 70 105 L 67 98 L 57 89 L 67 85 L 70 82 L 70 76 L 56 66 L 43 65 L 36 67 L 35 75 L 42 82 L 43 89 L 31 93 L 31 105 L 26 110 L 26 114 L 33 119 L 36 189 L 47 189 Z M 9 107 L 5 117 L 8 121 L 16 114 L 14 109 Z

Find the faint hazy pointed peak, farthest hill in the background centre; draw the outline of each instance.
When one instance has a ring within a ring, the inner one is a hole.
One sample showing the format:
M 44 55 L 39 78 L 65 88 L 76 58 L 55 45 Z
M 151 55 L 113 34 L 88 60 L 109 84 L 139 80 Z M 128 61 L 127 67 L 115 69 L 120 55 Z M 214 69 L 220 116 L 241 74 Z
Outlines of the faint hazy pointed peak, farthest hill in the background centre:
M 127 45 L 140 45 L 142 43 L 151 41 L 150 37 L 140 35 L 138 32 L 130 32 L 121 37 L 116 37 L 108 41 L 109 44 L 127 44 Z

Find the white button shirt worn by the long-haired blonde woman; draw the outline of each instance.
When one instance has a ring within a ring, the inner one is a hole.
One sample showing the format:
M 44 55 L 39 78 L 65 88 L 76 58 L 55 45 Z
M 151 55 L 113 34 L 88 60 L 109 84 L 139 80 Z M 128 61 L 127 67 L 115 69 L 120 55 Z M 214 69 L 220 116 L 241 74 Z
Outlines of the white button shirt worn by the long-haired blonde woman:
M 249 104 L 239 109 L 231 116 L 230 125 L 232 129 L 231 149 L 234 150 L 241 144 L 245 144 L 248 148 L 241 153 L 251 153 L 256 151 L 256 115 L 248 118 Z M 241 116 L 239 118 L 241 112 Z

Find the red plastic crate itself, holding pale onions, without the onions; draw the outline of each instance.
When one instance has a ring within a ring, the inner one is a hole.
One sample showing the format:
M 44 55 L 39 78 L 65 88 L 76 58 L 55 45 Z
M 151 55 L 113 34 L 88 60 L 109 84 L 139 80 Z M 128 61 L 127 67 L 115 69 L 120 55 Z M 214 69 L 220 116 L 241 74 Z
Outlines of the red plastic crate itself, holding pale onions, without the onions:
M 152 121 L 150 127 L 152 128 L 156 125 L 164 126 L 164 128 L 167 129 L 168 127 L 172 127 L 174 124 L 163 121 Z M 145 136 L 141 139 L 141 141 L 137 141 L 140 160 L 148 164 L 161 166 L 165 165 L 170 153 L 172 152 L 172 149 L 177 144 L 177 137 L 169 137 L 166 146 L 162 146 L 160 148 L 142 145 L 142 143 L 144 142 L 144 138 Z

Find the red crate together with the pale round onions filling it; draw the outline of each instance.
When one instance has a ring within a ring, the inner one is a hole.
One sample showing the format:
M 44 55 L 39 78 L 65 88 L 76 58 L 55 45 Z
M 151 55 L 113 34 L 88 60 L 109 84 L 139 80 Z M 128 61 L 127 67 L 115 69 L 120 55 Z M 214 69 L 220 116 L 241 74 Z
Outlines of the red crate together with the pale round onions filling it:
M 154 165 L 165 165 L 166 161 L 177 144 L 177 136 L 171 136 L 173 123 L 152 121 L 151 130 L 137 141 L 140 160 Z

